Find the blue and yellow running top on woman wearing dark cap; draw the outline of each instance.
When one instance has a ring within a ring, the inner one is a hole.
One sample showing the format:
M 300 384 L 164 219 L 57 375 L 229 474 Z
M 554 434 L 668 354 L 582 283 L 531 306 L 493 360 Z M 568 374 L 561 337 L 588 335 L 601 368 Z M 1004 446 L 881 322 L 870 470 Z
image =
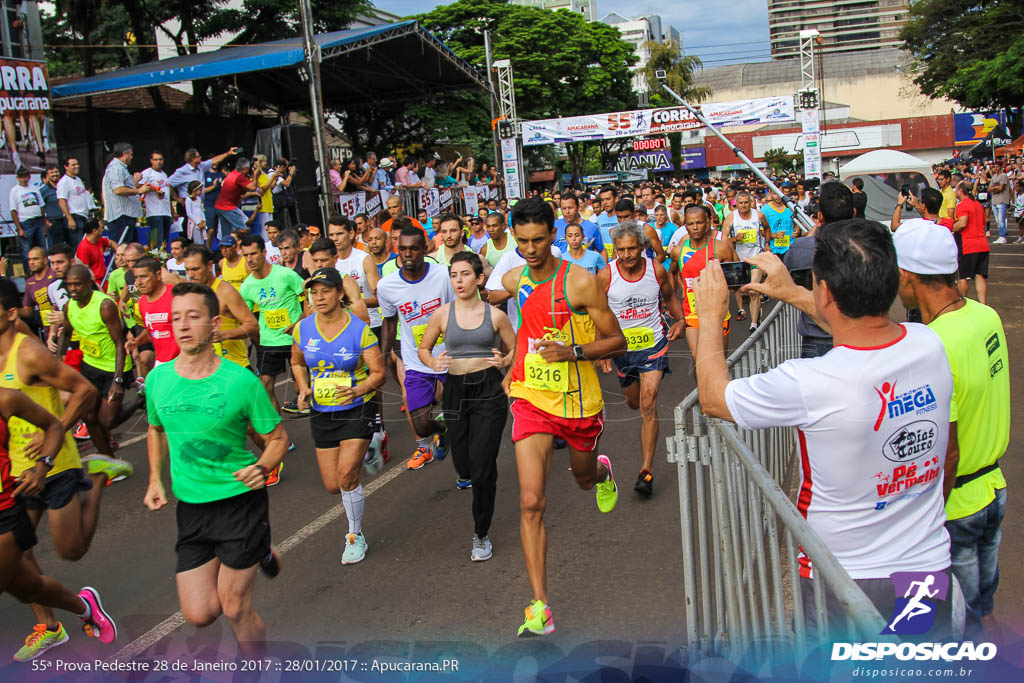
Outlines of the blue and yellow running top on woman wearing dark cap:
M 373 392 L 347 403 L 334 398 L 338 386 L 355 386 L 370 374 L 362 359 L 364 349 L 377 344 L 377 336 L 366 323 L 348 316 L 348 324 L 334 339 L 327 339 L 316 322 L 319 313 L 303 318 L 293 338 L 305 356 L 309 385 L 313 389 L 312 408 L 321 413 L 337 413 L 358 408 L 373 398 Z

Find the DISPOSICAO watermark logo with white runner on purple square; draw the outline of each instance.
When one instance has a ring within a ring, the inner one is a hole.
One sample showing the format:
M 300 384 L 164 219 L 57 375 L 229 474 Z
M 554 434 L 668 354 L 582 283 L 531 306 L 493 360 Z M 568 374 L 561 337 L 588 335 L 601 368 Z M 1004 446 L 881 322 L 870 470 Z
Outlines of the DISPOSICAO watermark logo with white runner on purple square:
M 897 571 L 891 574 L 895 591 L 893 612 L 882 630 L 883 636 L 922 636 L 935 626 L 936 615 L 942 612 L 943 623 L 949 621 L 949 573 L 944 571 Z M 943 629 L 945 631 L 945 629 Z M 945 636 L 938 634 L 945 639 Z M 987 661 L 995 656 L 993 643 L 957 642 L 874 642 L 834 643 L 831 658 L 897 659 L 919 661 L 961 659 Z

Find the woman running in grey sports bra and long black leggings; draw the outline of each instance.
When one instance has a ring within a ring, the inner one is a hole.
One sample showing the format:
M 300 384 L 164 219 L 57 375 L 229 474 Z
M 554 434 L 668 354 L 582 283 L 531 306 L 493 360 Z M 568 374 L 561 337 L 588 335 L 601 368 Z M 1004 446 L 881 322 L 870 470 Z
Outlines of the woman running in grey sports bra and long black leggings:
M 483 262 L 476 254 L 452 257 L 456 298 L 430 317 L 419 346 L 420 360 L 447 373 L 442 410 L 452 444 L 456 488 L 473 489 L 473 546 L 469 559 L 489 560 L 494 547 L 487 532 L 498 490 L 498 451 L 508 420 L 503 372 L 515 355 L 515 331 L 509 318 L 480 299 Z M 445 350 L 434 356 L 438 339 Z

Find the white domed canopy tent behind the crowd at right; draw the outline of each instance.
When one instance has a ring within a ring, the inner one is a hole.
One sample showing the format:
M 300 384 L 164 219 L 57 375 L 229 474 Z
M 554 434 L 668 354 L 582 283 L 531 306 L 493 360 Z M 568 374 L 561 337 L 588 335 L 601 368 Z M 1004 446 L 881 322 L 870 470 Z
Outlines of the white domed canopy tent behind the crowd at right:
M 925 187 L 935 187 L 932 165 L 913 155 L 897 150 L 876 150 L 860 155 L 840 168 L 840 179 L 847 184 L 854 178 L 864 182 L 867 195 L 866 218 L 888 225 L 903 185 L 921 196 Z M 913 210 L 903 212 L 903 219 L 918 218 Z

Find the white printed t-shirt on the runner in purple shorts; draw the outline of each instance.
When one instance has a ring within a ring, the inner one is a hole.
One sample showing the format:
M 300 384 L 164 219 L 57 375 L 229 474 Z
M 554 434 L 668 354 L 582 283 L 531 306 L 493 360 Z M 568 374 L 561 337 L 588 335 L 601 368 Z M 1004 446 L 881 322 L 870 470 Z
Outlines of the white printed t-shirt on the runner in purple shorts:
M 401 326 L 401 359 L 406 370 L 428 375 L 442 375 L 420 361 L 419 340 L 423 339 L 430 315 L 455 299 L 452 278 L 447 268 L 427 261 L 427 271 L 416 282 L 406 280 L 401 268 L 384 275 L 377 283 L 377 302 L 384 317 L 398 316 Z M 434 346 L 433 355 L 439 355 L 444 344 Z

